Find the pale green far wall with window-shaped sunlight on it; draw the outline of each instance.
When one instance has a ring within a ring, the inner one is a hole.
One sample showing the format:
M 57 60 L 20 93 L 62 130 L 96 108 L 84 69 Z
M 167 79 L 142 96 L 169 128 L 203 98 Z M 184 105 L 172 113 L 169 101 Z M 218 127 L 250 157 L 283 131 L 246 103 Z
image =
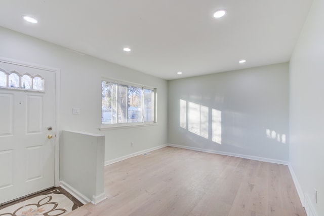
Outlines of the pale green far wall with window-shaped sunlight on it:
M 288 161 L 288 80 L 282 63 L 169 81 L 169 143 Z M 190 132 L 189 122 L 180 127 L 180 100 L 208 107 L 208 137 Z M 221 143 L 212 140 L 213 109 L 221 112 Z

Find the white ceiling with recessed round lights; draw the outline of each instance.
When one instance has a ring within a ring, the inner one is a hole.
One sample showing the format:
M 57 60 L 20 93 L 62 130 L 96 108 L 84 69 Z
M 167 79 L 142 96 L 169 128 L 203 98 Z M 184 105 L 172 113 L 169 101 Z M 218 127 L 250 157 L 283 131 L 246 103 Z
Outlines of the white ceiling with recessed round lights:
M 0 26 L 172 80 L 289 61 L 311 3 L 1 0 Z M 226 16 L 213 18 L 217 9 L 226 9 Z M 125 46 L 132 51 L 124 52 Z

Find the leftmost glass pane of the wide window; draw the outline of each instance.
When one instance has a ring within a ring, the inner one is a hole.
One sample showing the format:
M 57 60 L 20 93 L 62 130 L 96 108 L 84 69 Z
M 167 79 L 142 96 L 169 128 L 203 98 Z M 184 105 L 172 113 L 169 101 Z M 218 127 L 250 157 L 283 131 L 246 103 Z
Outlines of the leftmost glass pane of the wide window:
M 117 123 L 117 83 L 102 81 L 101 92 L 101 122 L 115 124 Z

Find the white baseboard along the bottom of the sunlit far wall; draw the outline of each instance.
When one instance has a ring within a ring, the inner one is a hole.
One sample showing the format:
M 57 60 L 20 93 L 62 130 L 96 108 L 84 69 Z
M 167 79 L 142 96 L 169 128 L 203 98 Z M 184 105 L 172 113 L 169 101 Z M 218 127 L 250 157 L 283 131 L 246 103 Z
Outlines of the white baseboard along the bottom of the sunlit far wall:
M 215 150 L 210 150 L 210 149 L 201 149 L 201 148 L 196 148 L 196 147 L 174 145 L 174 144 L 170 144 L 170 143 L 168 144 L 168 146 L 182 148 L 182 149 L 189 149 L 189 150 L 194 150 L 194 151 L 199 151 L 199 152 L 213 153 L 213 154 L 218 154 L 218 155 L 246 158 L 246 159 L 269 162 L 269 163 L 277 163 L 277 164 L 284 164 L 284 165 L 289 164 L 288 161 L 276 160 L 276 159 L 271 159 L 271 158 L 262 158 L 262 157 L 256 157 L 256 156 L 250 156 L 250 155 L 241 155 L 241 154 L 235 154 L 235 153 L 230 153 L 230 152 L 215 151 Z

